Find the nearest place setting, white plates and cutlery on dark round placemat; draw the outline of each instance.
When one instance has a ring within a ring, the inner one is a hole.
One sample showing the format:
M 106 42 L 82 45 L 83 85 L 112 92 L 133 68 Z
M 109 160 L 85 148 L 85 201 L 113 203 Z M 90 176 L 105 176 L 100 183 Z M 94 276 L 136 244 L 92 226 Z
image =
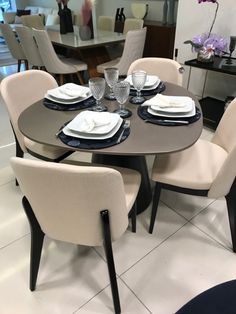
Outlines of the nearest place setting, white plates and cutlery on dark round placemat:
M 130 120 L 118 113 L 84 110 L 65 123 L 56 136 L 68 146 L 99 149 L 119 144 L 129 134 Z

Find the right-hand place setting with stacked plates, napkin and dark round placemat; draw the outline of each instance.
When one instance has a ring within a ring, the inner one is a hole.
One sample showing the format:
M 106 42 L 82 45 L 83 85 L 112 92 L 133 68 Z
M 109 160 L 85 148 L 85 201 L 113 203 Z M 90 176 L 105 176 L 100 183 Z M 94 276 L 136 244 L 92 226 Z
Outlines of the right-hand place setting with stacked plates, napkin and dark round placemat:
M 147 123 L 181 126 L 199 120 L 201 112 L 191 97 L 157 94 L 139 106 L 138 115 Z

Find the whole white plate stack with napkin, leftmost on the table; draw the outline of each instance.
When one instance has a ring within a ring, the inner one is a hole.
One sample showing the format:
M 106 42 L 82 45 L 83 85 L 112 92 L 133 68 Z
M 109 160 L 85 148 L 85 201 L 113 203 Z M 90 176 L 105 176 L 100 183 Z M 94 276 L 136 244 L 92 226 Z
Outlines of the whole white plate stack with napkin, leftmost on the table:
M 86 86 L 67 83 L 47 91 L 45 98 L 64 105 L 71 105 L 91 97 L 90 89 Z

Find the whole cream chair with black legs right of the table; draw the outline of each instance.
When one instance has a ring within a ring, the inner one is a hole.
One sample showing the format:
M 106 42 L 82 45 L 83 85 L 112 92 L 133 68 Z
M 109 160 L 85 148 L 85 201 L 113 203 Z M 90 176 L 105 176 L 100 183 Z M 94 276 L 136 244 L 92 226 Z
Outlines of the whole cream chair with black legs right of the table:
M 199 139 L 180 152 L 156 156 L 152 180 L 156 182 L 151 223 L 152 233 L 161 189 L 218 198 L 225 196 L 236 252 L 236 99 L 225 111 L 211 142 Z

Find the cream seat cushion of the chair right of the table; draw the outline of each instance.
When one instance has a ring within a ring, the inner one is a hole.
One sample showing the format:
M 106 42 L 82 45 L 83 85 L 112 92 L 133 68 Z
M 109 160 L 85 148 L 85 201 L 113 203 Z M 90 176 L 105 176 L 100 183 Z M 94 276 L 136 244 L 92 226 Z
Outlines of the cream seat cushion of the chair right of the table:
M 220 146 L 200 139 L 183 151 L 157 155 L 152 179 L 182 188 L 208 190 L 227 156 Z

